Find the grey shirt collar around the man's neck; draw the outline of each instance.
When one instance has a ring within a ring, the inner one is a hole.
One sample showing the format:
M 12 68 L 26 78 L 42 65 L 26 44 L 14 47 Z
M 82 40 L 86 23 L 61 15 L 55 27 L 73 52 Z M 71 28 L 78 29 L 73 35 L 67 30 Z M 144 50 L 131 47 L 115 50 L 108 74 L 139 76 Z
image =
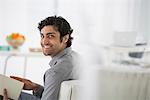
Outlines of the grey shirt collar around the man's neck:
M 54 56 L 52 58 L 52 60 L 50 61 L 49 65 L 51 67 L 53 67 L 57 63 L 57 60 L 59 58 L 61 58 L 62 56 L 66 55 L 66 54 L 68 54 L 70 52 L 71 52 L 71 47 L 65 48 L 63 51 L 61 51 L 60 53 L 58 53 L 56 56 Z

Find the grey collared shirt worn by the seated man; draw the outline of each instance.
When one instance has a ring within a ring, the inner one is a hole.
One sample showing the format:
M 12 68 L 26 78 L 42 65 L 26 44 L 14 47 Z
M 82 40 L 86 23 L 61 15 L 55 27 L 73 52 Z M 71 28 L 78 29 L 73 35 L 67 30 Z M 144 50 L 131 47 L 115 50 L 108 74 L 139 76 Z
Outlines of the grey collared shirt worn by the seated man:
M 51 68 L 44 75 L 44 87 L 41 86 L 34 95 L 41 97 L 41 100 L 58 100 L 61 83 L 78 78 L 74 74 L 77 60 L 78 54 L 70 47 L 53 57 L 49 63 Z

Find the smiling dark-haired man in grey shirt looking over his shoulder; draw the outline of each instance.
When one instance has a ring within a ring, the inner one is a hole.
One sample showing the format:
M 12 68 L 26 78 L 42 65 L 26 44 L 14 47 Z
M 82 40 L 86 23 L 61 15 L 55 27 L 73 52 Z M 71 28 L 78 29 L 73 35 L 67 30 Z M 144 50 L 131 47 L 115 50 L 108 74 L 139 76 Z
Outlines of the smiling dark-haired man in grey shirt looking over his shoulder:
M 60 85 L 63 81 L 75 79 L 77 53 L 71 50 L 73 30 L 62 17 L 51 16 L 39 23 L 41 46 L 44 55 L 51 56 L 50 69 L 44 74 L 44 87 L 28 79 L 11 76 L 24 83 L 24 90 L 33 90 L 33 95 L 21 93 L 19 100 L 58 100 Z M 4 98 L 7 99 L 7 90 Z

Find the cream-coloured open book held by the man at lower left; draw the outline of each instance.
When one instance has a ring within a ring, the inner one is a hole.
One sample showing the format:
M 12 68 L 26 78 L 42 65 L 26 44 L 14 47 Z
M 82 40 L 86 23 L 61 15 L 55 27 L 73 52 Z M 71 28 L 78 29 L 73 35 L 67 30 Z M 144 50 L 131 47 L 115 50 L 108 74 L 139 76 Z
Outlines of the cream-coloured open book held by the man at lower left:
M 4 88 L 7 89 L 8 97 L 18 100 L 24 83 L 0 74 L 0 95 L 3 95 Z

